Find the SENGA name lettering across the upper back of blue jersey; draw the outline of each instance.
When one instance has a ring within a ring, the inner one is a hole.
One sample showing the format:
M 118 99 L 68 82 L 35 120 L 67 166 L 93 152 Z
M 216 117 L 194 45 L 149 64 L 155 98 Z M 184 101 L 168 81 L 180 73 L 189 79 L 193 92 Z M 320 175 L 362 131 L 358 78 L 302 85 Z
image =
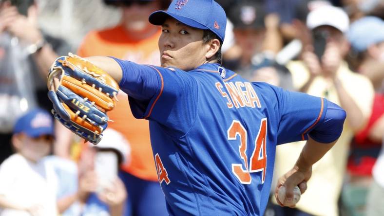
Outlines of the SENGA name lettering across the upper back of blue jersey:
M 241 108 L 241 107 L 250 107 L 250 108 L 261 108 L 259 97 L 255 90 L 252 88 L 252 84 L 249 82 L 228 82 L 224 83 L 223 86 L 221 83 L 215 83 L 216 89 L 220 94 L 228 100 L 228 108 Z

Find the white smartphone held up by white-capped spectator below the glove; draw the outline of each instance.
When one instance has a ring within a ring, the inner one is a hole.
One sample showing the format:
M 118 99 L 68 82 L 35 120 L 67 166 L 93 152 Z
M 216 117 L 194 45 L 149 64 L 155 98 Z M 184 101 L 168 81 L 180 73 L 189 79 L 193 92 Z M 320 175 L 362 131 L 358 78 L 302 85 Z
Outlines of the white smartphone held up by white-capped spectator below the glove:
M 98 151 L 95 156 L 95 171 L 98 180 L 97 191 L 101 192 L 117 178 L 117 155 L 114 151 Z

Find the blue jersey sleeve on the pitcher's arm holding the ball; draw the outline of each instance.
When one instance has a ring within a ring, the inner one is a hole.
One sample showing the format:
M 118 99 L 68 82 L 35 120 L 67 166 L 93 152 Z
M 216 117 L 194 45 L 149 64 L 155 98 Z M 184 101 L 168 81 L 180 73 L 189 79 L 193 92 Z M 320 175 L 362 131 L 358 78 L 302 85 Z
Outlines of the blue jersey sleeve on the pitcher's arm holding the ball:
M 338 125 L 333 125 L 333 120 L 326 121 L 326 123 L 335 128 L 324 130 L 323 125 L 325 125 L 328 103 L 330 103 L 326 99 L 306 93 L 283 90 L 266 83 L 254 84 L 257 86 L 256 88 L 263 91 L 269 113 L 274 112 L 270 116 L 275 117 L 270 121 L 276 126 L 274 127 L 277 131 L 277 144 L 307 140 L 308 135 L 311 137 L 313 135 L 312 138 L 318 142 L 329 143 L 330 139 L 334 137 L 337 139 L 340 136 L 338 131 L 342 130 L 342 126 L 339 129 Z M 276 100 L 271 100 L 273 97 Z

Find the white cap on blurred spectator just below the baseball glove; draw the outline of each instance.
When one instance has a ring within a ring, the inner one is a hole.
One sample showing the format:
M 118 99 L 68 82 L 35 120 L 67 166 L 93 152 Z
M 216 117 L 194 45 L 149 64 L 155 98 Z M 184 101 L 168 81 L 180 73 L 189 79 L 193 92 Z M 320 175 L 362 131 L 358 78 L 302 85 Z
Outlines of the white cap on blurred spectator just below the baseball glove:
M 112 148 L 117 150 L 117 152 L 120 153 L 123 162 L 129 162 L 131 159 L 131 145 L 129 142 L 124 138 L 124 136 L 111 128 L 107 128 L 103 131 L 103 138 L 101 141 L 97 144 L 91 144 L 92 147 L 96 148 Z

